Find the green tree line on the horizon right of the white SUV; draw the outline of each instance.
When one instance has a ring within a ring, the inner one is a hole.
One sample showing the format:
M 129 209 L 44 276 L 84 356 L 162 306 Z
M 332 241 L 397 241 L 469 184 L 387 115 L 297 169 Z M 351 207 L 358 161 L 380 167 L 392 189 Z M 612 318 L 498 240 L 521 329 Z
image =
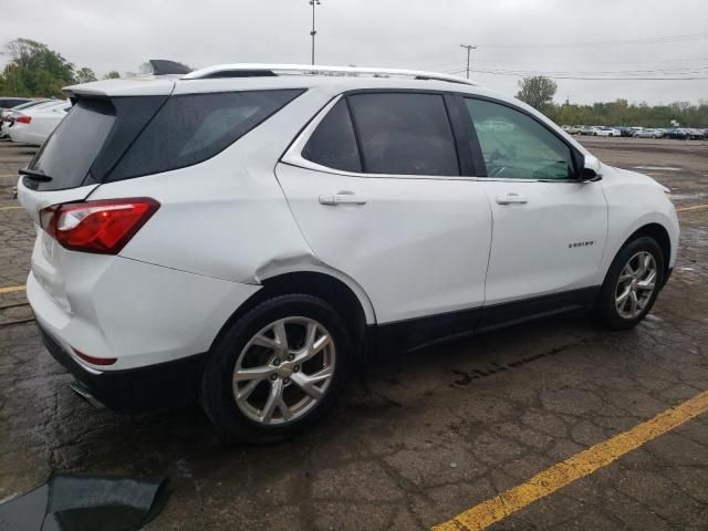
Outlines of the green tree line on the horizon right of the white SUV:
M 698 104 L 674 102 L 668 105 L 629 103 L 626 100 L 580 105 L 553 102 L 558 85 L 543 76 L 524 77 L 519 82 L 517 97 L 538 108 L 561 125 L 625 125 L 643 127 L 708 127 L 708 100 Z

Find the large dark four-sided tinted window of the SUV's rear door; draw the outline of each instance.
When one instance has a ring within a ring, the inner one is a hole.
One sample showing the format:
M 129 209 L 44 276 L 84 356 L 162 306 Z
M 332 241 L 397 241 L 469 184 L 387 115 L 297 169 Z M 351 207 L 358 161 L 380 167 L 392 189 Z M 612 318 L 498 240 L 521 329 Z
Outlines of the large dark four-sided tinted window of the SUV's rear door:
M 442 96 L 356 94 L 350 96 L 371 174 L 459 175 L 457 150 Z

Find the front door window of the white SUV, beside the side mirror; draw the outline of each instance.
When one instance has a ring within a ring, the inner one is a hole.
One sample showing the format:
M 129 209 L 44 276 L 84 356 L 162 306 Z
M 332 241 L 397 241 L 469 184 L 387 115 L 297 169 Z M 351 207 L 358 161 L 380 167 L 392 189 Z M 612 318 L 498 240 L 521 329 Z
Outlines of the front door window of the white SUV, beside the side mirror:
M 570 147 L 532 117 L 506 105 L 465 100 L 489 177 L 569 179 Z

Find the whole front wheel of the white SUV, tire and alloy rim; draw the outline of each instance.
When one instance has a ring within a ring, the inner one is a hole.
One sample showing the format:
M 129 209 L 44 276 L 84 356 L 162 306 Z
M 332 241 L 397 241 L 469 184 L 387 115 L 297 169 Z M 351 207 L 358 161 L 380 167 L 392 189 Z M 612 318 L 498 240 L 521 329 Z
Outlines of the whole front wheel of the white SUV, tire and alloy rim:
M 593 314 L 612 330 L 635 326 L 652 310 L 664 285 L 664 256 L 656 240 L 642 236 L 615 257 Z

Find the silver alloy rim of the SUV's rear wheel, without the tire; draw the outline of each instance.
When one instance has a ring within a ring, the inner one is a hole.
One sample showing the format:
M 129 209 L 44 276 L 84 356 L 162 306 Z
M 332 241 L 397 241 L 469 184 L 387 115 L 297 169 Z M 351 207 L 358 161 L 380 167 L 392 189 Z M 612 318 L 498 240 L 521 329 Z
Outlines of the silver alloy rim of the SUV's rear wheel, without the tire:
M 327 330 L 310 317 L 285 317 L 261 329 L 233 368 L 233 398 L 251 420 L 279 425 L 306 415 L 326 393 L 336 362 Z

